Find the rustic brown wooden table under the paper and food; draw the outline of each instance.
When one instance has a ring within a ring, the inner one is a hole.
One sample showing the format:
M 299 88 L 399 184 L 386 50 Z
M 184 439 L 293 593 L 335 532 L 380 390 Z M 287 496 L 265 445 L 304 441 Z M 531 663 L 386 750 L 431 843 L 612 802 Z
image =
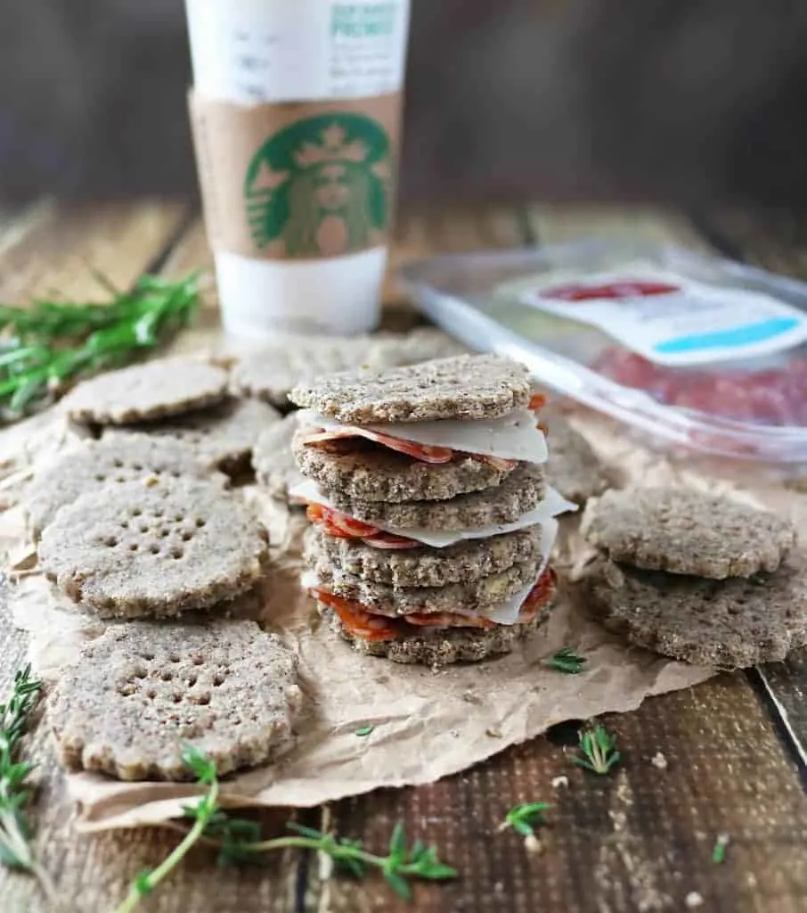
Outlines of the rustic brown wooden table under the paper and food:
M 800 233 L 801 232 L 801 233 Z M 402 216 L 396 263 L 440 250 L 547 244 L 583 235 L 639 236 L 717 247 L 807 278 L 807 230 L 786 217 L 686 215 L 618 208 L 531 205 L 464 208 Z M 210 263 L 198 215 L 186 205 L 62 208 L 48 201 L 0 213 L 0 300 L 24 301 L 55 290 L 70 299 L 98 294 L 88 266 L 119 287 L 146 271 L 176 276 Z M 393 283 L 387 322 L 414 320 Z M 204 320 L 215 320 L 214 305 Z M 2 456 L 2 455 L 0 455 Z M 802 497 L 795 496 L 794 497 Z M 0 614 L 0 690 L 5 693 L 26 643 Z M 565 724 L 445 781 L 377 792 L 296 819 L 385 847 L 396 821 L 440 848 L 460 871 L 455 883 L 418 886 L 412 905 L 370 876 L 362 884 L 323 880 L 314 855 L 287 853 L 262 868 L 221 869 L 208 849 L 188 861 L 142 904 L 154 913 L 297 913 L 417 909 L 424 913 L 628 913 L 687 910 L 807 910 L 807 653 L 748 673 L 723 675 L 690 691 L 647 700 L 608 721 L 624 763 L 605 778 L 573 777 Z M 43 727 L 44 729 L 44 727 Z M 71 809 L 47 733 L 30 751 L 40 764 L 36 851 L 64 909 L 112 909 L 142 868 L 155 866 L 176 834 L 164 829 L 75 834 Z M 651 759 L 660 752 L 660 769 Z M 543 852 L 496 832 L 514 803 L 551 803 Z M 264 813 L 266 833 L 291 813 Z M 723 865 L 711 860 L 718 834 L 730 838 Z M 0 911 L 44 910 L 26 876 L 0 871 Z

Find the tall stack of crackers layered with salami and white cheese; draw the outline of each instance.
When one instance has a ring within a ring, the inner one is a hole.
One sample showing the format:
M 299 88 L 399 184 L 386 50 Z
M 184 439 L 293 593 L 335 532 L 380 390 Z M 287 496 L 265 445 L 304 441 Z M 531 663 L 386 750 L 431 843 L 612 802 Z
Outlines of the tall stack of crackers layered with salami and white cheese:
M 554 597 L 569 507 L 547 488 L 526 369 L 489 355 L 301 384 L 305 585 L 359 651 L 440 666 L 508 653 Z

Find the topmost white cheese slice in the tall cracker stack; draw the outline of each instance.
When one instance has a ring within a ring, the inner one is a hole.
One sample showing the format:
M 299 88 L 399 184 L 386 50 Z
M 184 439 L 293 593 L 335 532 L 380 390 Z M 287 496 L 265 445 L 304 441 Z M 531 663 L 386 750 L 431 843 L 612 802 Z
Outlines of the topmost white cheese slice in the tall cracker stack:
M 313 409 L 299 413 L 300 425 L 338 431 L 350 427 L 336 422 Z M 354 425 L 356 427 L 356 425 Z M 444 420 L 440 422 L 401 422 L 389 425 L 361 425 L 378 435 L 397 437 L 435 447 L 450 447 L 463 453 L 501 456 L 527 463 L 545 463 L 546 438 L 536 425 L 535 414 L 529 409 L 516 409 L 502 418 L 478 422 Z

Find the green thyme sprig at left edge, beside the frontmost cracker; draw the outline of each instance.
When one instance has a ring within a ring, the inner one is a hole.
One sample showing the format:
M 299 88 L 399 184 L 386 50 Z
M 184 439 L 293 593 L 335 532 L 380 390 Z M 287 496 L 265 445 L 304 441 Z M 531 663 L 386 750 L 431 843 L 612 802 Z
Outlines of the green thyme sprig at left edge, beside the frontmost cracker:
M 26 666 L 16 672 L 11 698 L 0 704 L 0 863 L 36 876 L 52 900 L 53 885 L 36 862 L 26 821 L 26 805 L 31 798 L 28 777 L 34 765 L 19 760 L 20 740 L 41 690 L 42 682 L 31 678 L 31 666 Z

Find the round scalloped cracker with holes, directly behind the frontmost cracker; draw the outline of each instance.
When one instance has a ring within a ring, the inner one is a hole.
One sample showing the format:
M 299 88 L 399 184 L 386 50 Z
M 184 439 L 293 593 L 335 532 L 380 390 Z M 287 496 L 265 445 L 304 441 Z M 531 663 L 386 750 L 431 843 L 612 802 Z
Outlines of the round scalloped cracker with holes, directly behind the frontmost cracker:
M 237 495 L 211 482 L 128 482 L 83 495 L 43 533 L 39 561 L 105 618 L 169 616 L 252 589 L 266 533 Z

